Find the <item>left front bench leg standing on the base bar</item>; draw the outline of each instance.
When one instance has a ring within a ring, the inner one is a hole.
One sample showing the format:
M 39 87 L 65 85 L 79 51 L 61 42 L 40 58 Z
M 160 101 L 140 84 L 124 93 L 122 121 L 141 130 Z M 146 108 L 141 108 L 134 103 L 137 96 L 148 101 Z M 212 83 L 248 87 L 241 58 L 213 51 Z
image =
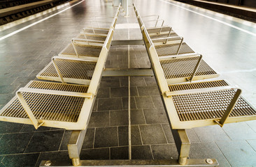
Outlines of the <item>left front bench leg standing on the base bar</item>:
M 69 158 L 72 159 L 73 166 L 79 166 L 80 163 L 80 152 L 83 146 L 83 140 L 85 139 L 86 130 L 73 131 L 69 139 L 68 150 Z

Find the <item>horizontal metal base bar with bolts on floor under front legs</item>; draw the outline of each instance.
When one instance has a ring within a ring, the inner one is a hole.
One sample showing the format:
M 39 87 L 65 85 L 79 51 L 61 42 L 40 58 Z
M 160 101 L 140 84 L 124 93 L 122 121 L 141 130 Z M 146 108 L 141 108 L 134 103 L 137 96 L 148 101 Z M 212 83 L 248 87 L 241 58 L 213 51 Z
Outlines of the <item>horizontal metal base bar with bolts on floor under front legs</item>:
M 184 166 L 219 166 L 218 161 L 216 159 L 211 159 L 212 163 L 208 164 L 207 161 L 209 159 L 187 159 L 187 164 Z M 46 165 L 48 164 L 48 165 Z M 40 166 L 62 166 L 68 167 L 72 166 L 66 164 L 63 161 L 41 161 Z M 167 159 L 167 160 L 141 160 L 141 159 L 132 159 L 132 160 L 80 160 L 80 166 L 132 166 L 132 167 L 141 167 L 141 166 L 150 166 L 150 167 L 159 167 L 159 166 L 166 166 L 166 167 L 180 167 L 178 164 L 177 159 Z

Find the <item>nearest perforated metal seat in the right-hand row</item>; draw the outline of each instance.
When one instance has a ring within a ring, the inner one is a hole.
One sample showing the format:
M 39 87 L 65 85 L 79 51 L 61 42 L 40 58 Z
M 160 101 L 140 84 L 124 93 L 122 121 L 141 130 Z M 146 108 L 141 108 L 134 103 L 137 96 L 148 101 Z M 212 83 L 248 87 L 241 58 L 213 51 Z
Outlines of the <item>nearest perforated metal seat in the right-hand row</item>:
M 199 127 L 204 120 L 220 120 L 236 94 L 236 88 L 227 81 L 203 81 L 197 83 L 169 85 L 171 97 L 180 122 L 190 122 L 191 127 Z M 256 119 L 256 110 L 243 97 L 239 97 L 226 122 Z M 201 120 L 200 124 L 192 122 Z M 224 123 L 223 123 L 224 124 Z

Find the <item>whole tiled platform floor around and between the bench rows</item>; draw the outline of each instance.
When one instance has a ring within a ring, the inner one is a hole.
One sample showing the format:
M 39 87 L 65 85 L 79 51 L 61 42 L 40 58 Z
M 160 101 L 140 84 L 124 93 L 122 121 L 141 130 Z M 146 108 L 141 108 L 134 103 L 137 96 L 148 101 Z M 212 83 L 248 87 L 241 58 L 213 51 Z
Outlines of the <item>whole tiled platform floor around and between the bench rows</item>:
M 254 26 L 175 1 L 143 0 L 134 3 L 141 15 L 158 13 L 164 18 L 166 24 L 173 26 L 192 49 L 204 55 L 204 59 L 222 74 L 222 78 L 241 87 L 243 96 L 256 106 L 256 37 L 208 17 L 256 33 Z M 1 40 L 0 108 L 15 95 L 18 88 L 35 79 L 50 58 L 62 51 L 93 16 L 114 15 L 116 8 L 111 5 L 111 2 L 103 0 L 83 1 Z M 120 13 L 118 24 L 136 22 L 132 8 L 129 15 L 124 17 L 124 13 Z M 44 17 L 1 31 L 0 35 Z M 127 38 L 140 39 L 141 33 L 138 29 L 115 30 L 115 40 Z M 112 46 L 106 67 L 127 68 L 128 54 L 130 67 L 150 67 L 143 46 Z M 103 77 L 80 159 L 128 159 L 127 109 L 128 78 Z M 220 166 L 256 166 L 255 121 L 229 124 L 223 128 L 216 125 L 188 129 L 187 134 L 192 143 L 192 159 L 215 158 Z M 66 146 L 70 136 L 71 131 L 64 129 L 40 127 L 35 130 L 31 125 L 0 122 L 0 166 L 38 166 L 44 159 L 71 164 Z M 131 145 L 132 159 L 178 158 L 154 77 L 131 77 Z

